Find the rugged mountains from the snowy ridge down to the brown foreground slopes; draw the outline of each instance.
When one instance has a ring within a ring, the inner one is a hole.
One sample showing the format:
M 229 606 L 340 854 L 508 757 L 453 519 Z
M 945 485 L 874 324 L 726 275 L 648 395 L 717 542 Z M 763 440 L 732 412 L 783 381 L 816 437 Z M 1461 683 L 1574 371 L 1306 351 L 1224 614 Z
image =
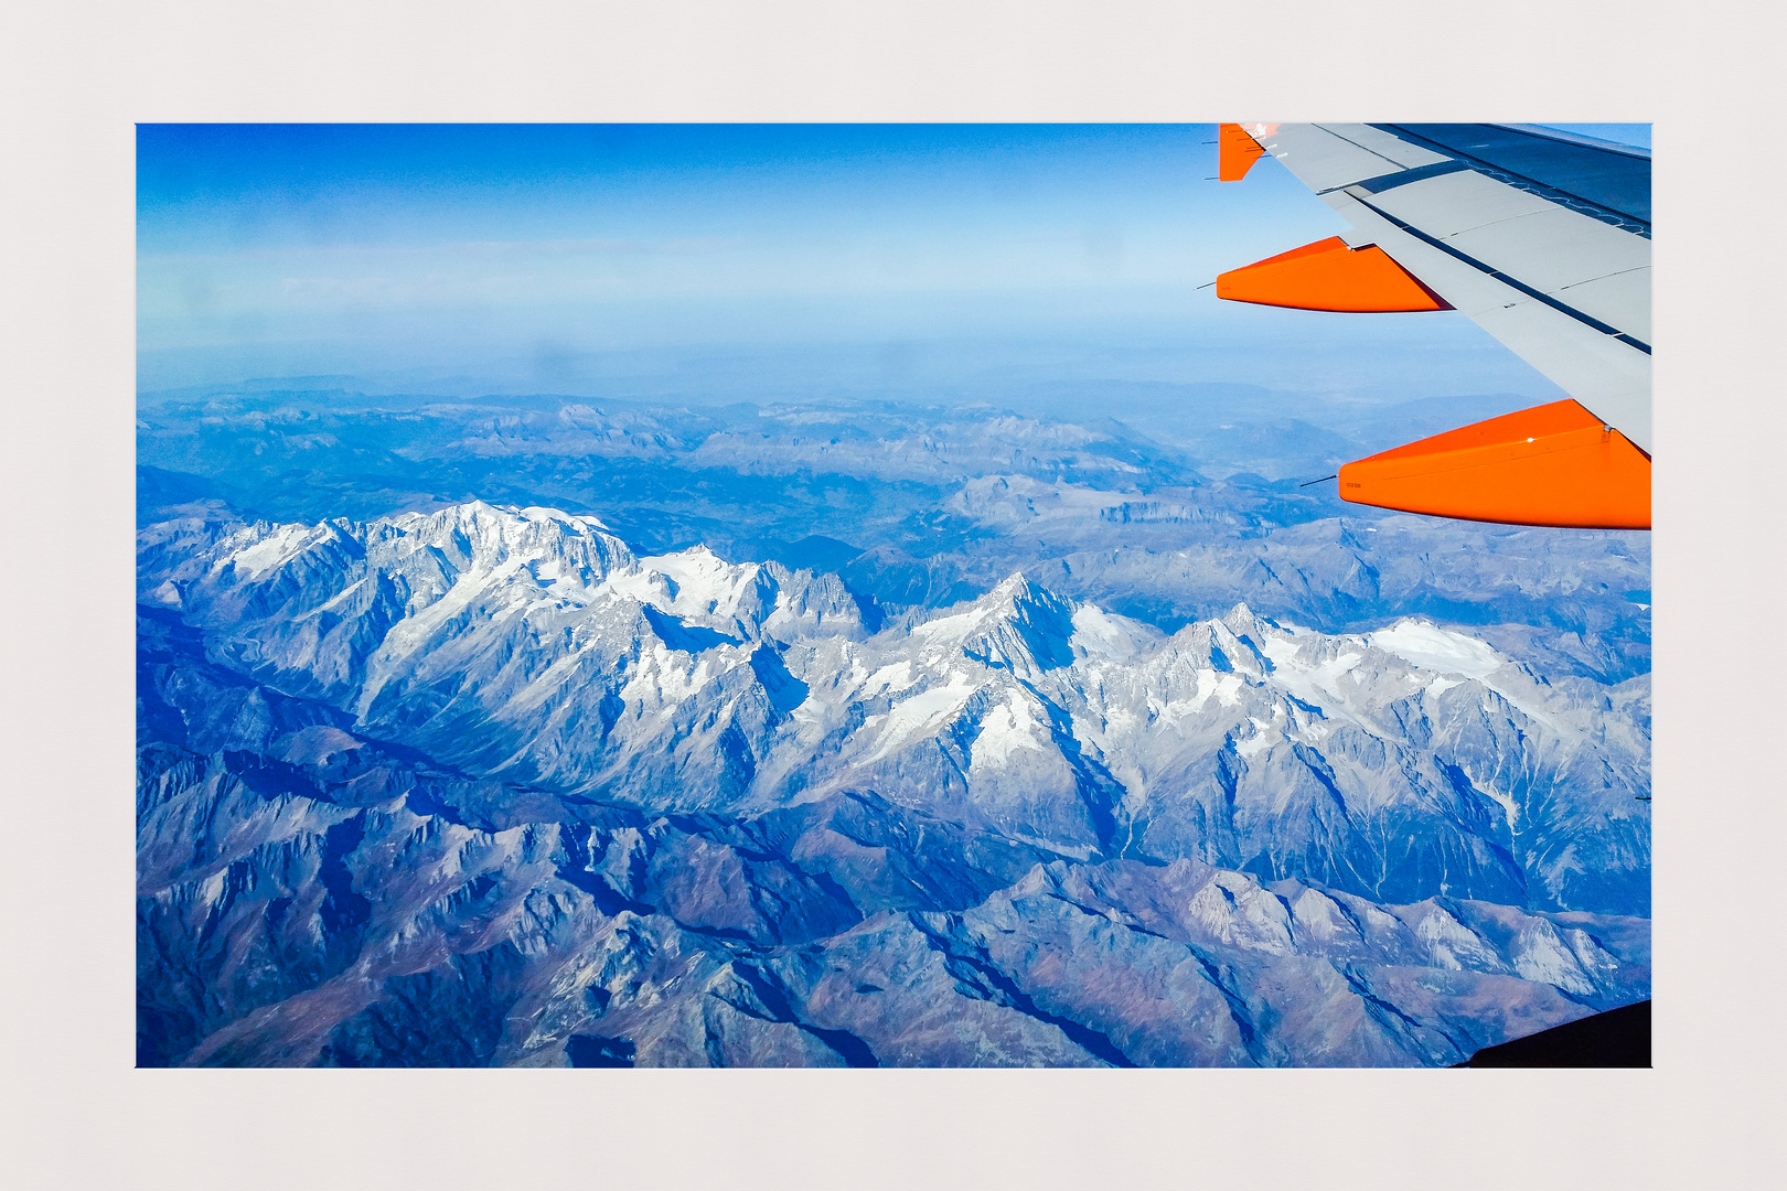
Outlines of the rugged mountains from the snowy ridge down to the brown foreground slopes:
M 139 536 L 145 1064 L 1439 1064 L 1648 995 L 1648 679 L 481 502 Z

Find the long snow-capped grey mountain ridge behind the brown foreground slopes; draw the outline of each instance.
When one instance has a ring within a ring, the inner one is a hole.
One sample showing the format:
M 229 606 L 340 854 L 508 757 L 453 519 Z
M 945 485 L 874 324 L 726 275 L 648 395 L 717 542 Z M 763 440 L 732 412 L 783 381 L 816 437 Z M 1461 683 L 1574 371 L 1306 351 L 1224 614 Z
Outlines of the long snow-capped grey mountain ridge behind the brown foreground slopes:
M 1294 862 L 1371 896 L 1444 873 L 1592 907 L 1648 871 L 1642 698 L 1608 711 L 1426 621 L 1237 605 L 1169 637 L 1015 573 L 870 634 L 836 577 L 491 505 L 150 527 L 139 579 L 231 670 L 502 782 L 706 812 L 874 789 L 1061 855 Z

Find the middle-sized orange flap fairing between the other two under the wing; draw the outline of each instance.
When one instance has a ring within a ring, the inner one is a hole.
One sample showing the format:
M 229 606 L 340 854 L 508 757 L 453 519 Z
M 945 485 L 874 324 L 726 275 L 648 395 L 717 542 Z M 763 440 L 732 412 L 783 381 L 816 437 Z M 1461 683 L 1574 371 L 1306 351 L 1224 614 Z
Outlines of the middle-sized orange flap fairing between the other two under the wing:
M 1217 277 L 1217 296 L 1299 311 L 1449 311 L 1414 273 L 1376 245 L 1347 248 L 1338 236 Z

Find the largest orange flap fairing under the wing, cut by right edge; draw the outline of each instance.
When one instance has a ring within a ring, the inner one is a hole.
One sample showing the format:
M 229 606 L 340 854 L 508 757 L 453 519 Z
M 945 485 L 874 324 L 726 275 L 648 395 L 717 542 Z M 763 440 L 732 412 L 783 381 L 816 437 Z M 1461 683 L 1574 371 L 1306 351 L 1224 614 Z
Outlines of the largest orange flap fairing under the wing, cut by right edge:
M 1649 529 L 1651 457 L 1565 400 L 1349 462 L 1340 496 L 1465 521 Z

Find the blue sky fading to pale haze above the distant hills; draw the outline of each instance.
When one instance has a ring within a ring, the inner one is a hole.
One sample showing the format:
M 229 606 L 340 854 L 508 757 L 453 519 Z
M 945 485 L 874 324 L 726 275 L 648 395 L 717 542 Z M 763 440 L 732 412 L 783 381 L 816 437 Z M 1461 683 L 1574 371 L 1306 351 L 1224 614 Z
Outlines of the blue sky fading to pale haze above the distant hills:
M 1206 180 L 1212 139 L 1213 125 L 143 125 L 139 387 L 429 368 L 525 386 L 547 357 L 851 343 L 1129 348 L 1172 361 L 1158 379 L 1288 387 L 1388 375 L 1397 354 L 1444 377 L 1451 354 L 1465 389 L 1535 380 L 1456 316 L 1215 302 L 1199 286 L 1217 271 L 1340 221 L 1272 162 Z M 1262 341 L 1297 346 L 1263 362 Z

